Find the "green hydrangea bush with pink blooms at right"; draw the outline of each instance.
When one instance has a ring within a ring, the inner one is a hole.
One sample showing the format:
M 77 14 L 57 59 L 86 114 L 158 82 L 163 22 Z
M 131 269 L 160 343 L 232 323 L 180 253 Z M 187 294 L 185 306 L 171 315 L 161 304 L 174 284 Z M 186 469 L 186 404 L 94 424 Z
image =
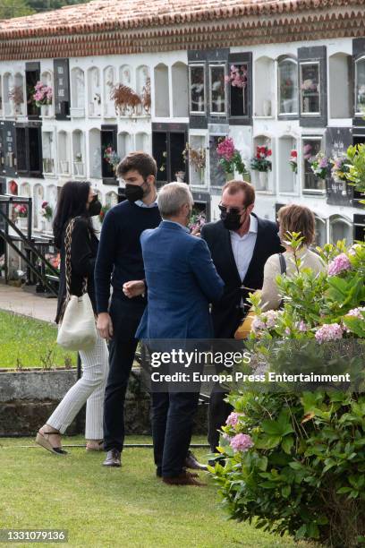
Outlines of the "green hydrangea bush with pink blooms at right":
M 365 244 L 318 248 L 326 268 L 316 275 L 302 268 L 301 235 L 288 242 L 296 273 L 276 279 L 283 308 L 262 312 L 259 295 L 250 298 L 257 315 L 247 344 L 255 363 L 285 368 L 296 360 L 301 372 L 301 358 L 320 364 L 327 343 L 340 340 L 343 355 L 331 355 L 331 366 L 342 360 L 363 371 L 364 353 L 346 352 L 365 338 Z M 231 518 L 297 540 L 365 544 L 365 395 L 242 389 L 229 401 L 234 411 L 219 448 L 225 466 L 217 461 L 210 471 Z

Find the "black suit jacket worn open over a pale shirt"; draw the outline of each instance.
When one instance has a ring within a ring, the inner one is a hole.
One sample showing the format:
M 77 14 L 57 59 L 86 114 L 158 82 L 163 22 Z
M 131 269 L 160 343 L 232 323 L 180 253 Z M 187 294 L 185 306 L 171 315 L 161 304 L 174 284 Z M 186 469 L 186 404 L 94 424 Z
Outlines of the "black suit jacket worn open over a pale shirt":
M 216 270 L 225 282 L 225 292 L 218 304 L 213 304 L 212 320 L 216 338 L 233 338 L 240 325 L 244 304 L 250 291 L 261 289 L 264 281 L 265 263 L 274 253 L 284 252 L 277 235 L 276 223 L 258 218 L 258 235 L 250 261 L 249 270 L 242 280 L 234 261 L 230 231 L 221 220 L 208 223 L 201 229 L 201 237 L 208 244 Z M 248 310 L 249 306 L 247 306 Z

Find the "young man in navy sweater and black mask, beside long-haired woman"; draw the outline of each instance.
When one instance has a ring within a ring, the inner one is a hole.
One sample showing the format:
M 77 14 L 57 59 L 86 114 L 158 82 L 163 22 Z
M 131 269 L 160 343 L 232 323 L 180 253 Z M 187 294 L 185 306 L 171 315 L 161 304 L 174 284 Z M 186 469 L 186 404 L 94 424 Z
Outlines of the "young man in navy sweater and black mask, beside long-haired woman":
M 121 466 L 124 440 L 123 407 L 132 369 L 137 339 L 134 337 L 147 304 L 133 290 L 144 285 L 144 268 L 140 235 L 156 228 L 161 217 L 157 208 L 154 158 L 145 152 L 132 152 L 119 164 L 117 175 L 125 181 L 126 201 L 106 214 L 100 235 L 95 266 L 97 327 L 109 344 L 109 376 L 104 406 L 104 465 Z M 113 295 L 109 305 L 110 283 Z M 123 285 L 130 288 L 124 295 Z

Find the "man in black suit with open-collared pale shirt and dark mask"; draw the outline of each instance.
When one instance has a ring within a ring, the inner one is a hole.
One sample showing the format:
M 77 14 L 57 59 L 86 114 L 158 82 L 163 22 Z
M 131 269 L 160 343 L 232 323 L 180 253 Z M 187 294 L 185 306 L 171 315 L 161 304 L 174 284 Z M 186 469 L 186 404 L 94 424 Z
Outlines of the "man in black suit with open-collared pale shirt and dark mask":
M 252 213 L 254 205 L 253 186 L 245 181 L 230 181 L 223 187 L 220 220 L 201 229 L 201 237 L 207 242 L 216 270 L 225 282 L 224 295 L 212 308 L 215 338 L 234 337 L 249 309 L 249 293 L 262 287 L 268 257 L 284 251 L 276 223 L 258 218 Z M 217 431 L 232 411 L 225 397 L 225 391 L 216 384 L 208 411 L 208 442 L 212 452 L 219 443 Z

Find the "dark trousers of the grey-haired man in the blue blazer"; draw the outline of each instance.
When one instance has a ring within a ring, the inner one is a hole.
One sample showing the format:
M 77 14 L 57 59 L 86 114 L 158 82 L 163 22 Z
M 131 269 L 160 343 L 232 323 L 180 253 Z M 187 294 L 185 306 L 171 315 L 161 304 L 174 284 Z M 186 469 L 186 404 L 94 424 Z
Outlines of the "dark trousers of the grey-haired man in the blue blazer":
M 191 442 L 199 393 L 153 392 L 152 436 L 157 473 L 181 474 Z

